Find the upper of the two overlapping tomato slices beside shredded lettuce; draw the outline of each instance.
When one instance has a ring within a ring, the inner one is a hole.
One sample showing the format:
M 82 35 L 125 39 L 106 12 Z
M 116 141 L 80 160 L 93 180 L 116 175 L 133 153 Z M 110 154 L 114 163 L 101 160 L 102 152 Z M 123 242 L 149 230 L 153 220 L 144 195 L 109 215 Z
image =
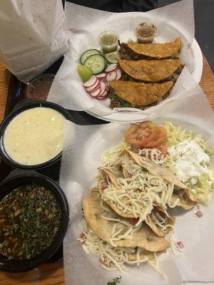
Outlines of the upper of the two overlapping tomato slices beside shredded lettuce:
M 136 147 L 146 146 L 158 135 L 158 126 L 151 122 L 143 122 L 140 125 L 133 125 L 125 134 L 125 140 Z

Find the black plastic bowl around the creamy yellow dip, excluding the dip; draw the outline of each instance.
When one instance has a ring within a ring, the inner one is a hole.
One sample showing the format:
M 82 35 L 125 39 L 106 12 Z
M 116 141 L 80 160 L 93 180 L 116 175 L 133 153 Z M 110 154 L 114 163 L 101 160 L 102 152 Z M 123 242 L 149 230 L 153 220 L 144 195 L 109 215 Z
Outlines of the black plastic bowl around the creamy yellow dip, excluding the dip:
M 41 164 L 24 165 L 24 164 L 21 164 L 19 162 L 16 162 L 15 160 L 13 160 L 6 152 L 6 148 L 4 146 L 4 133 L 6 131 L 7 126 L 20 113 L 24 112 L 25 110 L 29 110 L 29 109 L 36 108 L 36 107 L 51 108 L 53 110 L 58 111 L 58 113 L 61 113 L 61 115 L 63 115 L 63 117 L 66 120 L 71 120 L 71 114 L 68 112 L 68 110 L 66 110 L 65 108 L 61 107 L 60 105 L 57 105 L 57 104 L 51 103 L 51 102 L 43 102 L 43 101 L 36 101 L 35 100 L 35 101 L 30 101 L 30 102 L 24 103 L 20 107 L 15 108 L 3 120 L 3 122 L 1 123 L 1 126 L 0 126 L 0 156 L 2 157 L 2 159 L 7 164 L 11 165 L 12 167 L 21 168 L 21 169 L 27 169 L 27 170 L 35 170 L 35 169 L 40 169 L 40 168 L 43 168 L 43 167 L 49 167 L 50 165 L 53 165 L 54 163 L 56 163 L 58 160 L 61 159 L 61 152 L 60 152 L 55 157 L 51 158 L 51 160 L 48 160 L 48 161 L 43 162 Z M 34 151 L 35 150 L 32 148 L 32 152 L 34 152 Z

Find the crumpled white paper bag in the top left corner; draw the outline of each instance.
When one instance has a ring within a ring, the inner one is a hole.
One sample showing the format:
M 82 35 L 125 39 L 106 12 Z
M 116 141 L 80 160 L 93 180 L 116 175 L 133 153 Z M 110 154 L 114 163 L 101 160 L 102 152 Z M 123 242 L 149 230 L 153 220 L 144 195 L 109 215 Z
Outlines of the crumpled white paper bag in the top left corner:
M 28 82 L 68 51 L 61 0 L 1 0 L 0 61 Z

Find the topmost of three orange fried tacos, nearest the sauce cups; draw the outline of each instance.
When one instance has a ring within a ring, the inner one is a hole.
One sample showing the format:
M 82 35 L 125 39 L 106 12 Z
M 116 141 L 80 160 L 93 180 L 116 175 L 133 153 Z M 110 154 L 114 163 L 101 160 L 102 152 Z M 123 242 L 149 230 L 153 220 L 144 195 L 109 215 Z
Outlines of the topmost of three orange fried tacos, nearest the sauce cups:
M 179 58 L 181 38 L 170 43 L 121 43 L 122 59 L 165 59 Z

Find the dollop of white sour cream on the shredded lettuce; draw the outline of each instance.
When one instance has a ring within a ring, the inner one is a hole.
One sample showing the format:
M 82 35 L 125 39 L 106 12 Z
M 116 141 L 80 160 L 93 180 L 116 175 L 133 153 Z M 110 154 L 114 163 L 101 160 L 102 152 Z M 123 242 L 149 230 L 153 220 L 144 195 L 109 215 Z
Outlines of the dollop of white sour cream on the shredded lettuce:
M 168 149 L 170 156 L 175 158 L 176 176 L 183 182 L 209 173 L 206 164 L 210 157 L 195 140 L 184 140 Z

